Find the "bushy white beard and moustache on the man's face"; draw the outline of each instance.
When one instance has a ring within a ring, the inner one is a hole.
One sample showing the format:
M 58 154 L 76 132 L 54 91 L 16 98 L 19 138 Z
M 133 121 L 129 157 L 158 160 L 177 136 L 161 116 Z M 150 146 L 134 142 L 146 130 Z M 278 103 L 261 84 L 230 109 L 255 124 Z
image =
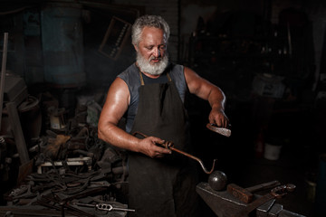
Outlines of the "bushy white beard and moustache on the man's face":
M 154 57 L 150 58 L 149 61 L 154 59 Z M 147 72 L 151 75 L 160 75 L 165 71 L 168 66 L 168 54 L 165 54 L 163 58 L 159 58 L 160 61 L 151 65 L 148 60 L 146 60 L 139 52 L 137 52 L 137 63 L 140 71 Z

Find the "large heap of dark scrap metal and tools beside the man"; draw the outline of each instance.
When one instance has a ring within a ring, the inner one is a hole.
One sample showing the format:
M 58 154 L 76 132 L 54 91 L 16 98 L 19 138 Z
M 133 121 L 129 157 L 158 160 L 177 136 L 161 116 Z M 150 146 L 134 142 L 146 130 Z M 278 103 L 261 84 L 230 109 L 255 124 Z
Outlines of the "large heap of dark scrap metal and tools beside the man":
M 126 216 L 127 157 L 97 137 L 96 127 L 47 130 L 34 147 L 33 173 L 20 174 L 0 214 Z

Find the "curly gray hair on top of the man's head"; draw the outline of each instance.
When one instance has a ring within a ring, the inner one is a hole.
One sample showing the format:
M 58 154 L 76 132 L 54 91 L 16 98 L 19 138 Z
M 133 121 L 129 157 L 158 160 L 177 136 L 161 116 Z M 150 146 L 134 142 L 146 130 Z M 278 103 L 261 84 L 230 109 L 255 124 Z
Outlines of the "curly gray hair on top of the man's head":
M 140 35 L 145 26 L 163 30 L 166 34 L 166 40 L 168 42 L 168 37 L 170 34 L 168 23 L 158 15 L 143 15 L 140 16 L 132 25 L 131 40 L 133 44 L 137 45 L 140 42 Z

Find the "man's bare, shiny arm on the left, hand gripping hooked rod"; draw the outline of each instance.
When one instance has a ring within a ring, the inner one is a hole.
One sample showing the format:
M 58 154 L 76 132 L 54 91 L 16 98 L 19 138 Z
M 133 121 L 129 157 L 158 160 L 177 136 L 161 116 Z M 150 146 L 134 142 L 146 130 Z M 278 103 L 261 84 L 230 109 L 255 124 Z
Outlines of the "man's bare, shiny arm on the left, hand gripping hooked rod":
M 170 154 L 170 150 L 159 147 L 164 141 L 158 137 L 139 139 L 118 127 L 118 122 L 129 106 L 129 89 L 127 84 L 117 78 L 110 85 L 107 99 L 101 111 L 98 124 L 98 137 L 113 146 L 140 152 L 150 157 L 161 157 Z

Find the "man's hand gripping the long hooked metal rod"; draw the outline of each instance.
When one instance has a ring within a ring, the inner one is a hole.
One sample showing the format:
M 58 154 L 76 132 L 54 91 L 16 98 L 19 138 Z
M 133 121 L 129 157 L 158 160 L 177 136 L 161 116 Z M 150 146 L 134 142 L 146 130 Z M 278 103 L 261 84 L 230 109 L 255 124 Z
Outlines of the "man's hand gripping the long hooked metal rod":
M 164 142 L 164 140 L 158 137 L 146 137 L 139 141 L 139 152 L 152 158 L 163 157 L 164 155 L 171 154 L 171 150 L 159 146 Z

